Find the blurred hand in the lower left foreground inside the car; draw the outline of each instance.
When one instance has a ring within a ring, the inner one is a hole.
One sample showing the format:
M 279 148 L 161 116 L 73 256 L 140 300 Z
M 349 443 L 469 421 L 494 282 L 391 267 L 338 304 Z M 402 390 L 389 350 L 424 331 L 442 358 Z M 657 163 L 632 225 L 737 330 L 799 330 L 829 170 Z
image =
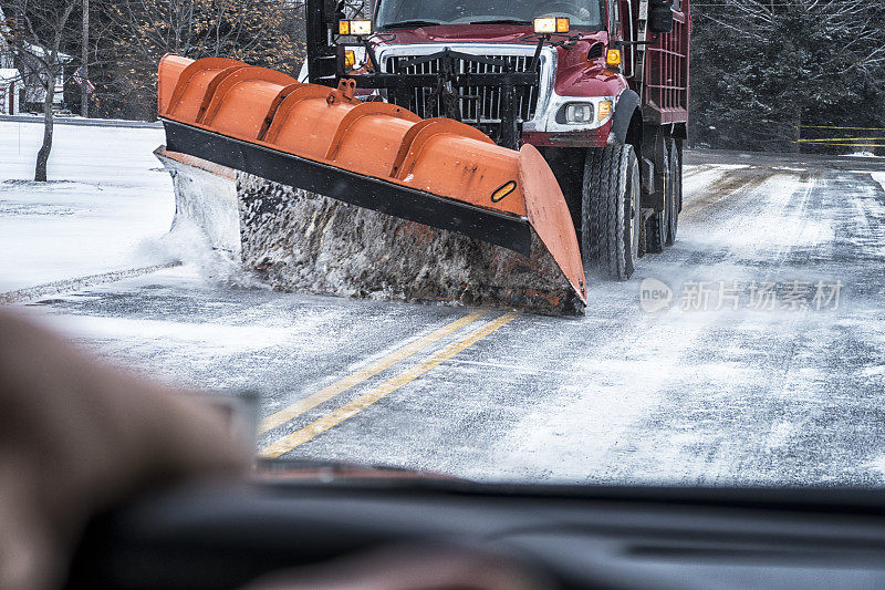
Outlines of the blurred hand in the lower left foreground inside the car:
M 86 520 L 146 487 L 242 473 L 222 413 L 0 310 L 0 588 L 63 581 Z

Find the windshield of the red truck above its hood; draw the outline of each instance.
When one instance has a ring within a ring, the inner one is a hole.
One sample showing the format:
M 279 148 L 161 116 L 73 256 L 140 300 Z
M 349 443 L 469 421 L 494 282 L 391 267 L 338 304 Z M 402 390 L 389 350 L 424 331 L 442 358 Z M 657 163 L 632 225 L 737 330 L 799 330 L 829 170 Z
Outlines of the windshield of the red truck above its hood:
M 531 24 L 535 17 L 569 17 L 580 29 L 603 28 L 603 0 L 381 0 L 378 29 L 470 24 L 479 22 Z

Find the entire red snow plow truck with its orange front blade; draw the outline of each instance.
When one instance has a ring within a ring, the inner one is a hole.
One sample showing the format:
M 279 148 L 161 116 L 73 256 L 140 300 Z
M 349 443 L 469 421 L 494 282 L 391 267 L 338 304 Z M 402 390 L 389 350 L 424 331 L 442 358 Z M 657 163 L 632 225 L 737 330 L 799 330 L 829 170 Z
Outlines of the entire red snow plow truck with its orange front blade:
M 582 314 L 676 239 L 688 0 L 308 0 L 299 79 L 165 56 L 176 224 L 275 288 Z

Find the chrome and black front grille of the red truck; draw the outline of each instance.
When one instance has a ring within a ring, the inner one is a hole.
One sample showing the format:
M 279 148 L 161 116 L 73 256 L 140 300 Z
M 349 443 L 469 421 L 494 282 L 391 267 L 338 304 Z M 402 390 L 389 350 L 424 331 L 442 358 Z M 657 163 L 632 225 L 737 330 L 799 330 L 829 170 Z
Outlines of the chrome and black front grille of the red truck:
M 532 56 L 530 55 L 482 55 L 483 58 L 491 58 L 494 60 L 502 60 L 510 63 L 512 72 L 528 72 Z M 382 69 L 385 72 L 397 73 L 400 61 L 408 61 L 414 59 L 412 55 L 391 55 L 385 58 Z M 503 68 L 500 65 L 489 65 L 486 63 L 475 62 L 458 62 L 459 73 L 469 74 L 485 74 L 485 73 L 503 73 Z M 406 74 L 435 74 L 440 69 L 440 60 L 433 60 L 418 65 L 412 65 L 404 73 Z M 433 93 L 435 89 L 424 86 L 414 89 L 410 93 L 408 104 L 399 104 L 405 106 L 413 113 L 416 113 L 424 118 L 445 116 L 445 108 L 442 108 L 441 101 L 437 99 L 433 101 L 429 108 L 425 108 L 427 96 Z M 455 86 L 456 94 L 462 96 L 473 96 L 473 99 L 461 99 L 461 121 L 469 125 L 480 127 L 492 137 L 497 127 L 501 123 L 501 89 L 498 86 Z M 535 110 L 538 108 L 538 86 L 516 86 L 516 102 L 519 105 L 519 121 L 520 123 L 531 121 L 534 118 Z M 396 97 L 391 93 L 389 100 L 397 102 Z M 398 103 L 397 103 L 398 104 Z M 491 132 L 491 133 L 490 133 Z

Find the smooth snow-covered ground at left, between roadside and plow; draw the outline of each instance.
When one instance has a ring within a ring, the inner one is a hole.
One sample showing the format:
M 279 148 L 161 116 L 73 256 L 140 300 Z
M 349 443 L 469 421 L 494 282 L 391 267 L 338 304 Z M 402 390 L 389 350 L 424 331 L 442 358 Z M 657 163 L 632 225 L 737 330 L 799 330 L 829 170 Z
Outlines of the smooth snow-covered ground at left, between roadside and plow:
M 152 152 L 163 130 L 56 125 L 48 184 L 33 167 L 43 126 L 0 122 L 0 293 L 148 267 L 175 213 Z

